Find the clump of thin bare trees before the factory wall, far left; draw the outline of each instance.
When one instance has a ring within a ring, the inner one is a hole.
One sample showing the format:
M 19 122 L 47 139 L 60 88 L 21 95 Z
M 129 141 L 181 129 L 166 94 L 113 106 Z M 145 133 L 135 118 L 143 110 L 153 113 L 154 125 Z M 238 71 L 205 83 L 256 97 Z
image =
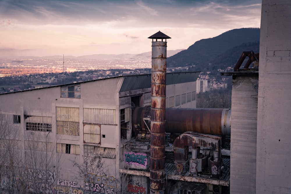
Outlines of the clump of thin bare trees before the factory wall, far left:
M 51 129 L 43 127 L 46 123 L 34 123 L 22 131 L 12 116 L 0 114 L 0 188 L 5 193 L 53 193 L 59 157 L 56 143 L 49 141 Z M 37 131 L 36 126 L 45 130 Z

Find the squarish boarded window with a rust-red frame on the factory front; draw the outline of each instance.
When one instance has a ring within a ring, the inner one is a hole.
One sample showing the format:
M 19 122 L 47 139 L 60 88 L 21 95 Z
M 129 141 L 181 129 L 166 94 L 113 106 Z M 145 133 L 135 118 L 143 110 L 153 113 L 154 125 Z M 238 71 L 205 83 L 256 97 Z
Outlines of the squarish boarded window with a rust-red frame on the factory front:
M 84 124 L 84 143 L 100 144 L 99 124 Z

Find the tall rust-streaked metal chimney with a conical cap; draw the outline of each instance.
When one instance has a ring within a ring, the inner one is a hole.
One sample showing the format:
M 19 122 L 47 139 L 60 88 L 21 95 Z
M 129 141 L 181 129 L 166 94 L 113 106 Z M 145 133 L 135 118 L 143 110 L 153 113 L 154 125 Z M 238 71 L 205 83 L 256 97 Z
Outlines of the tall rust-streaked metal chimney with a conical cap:
M 152 39 L 150 194 L 164 194 L 166 137 L 166 40 L 170 37 L 158 31 L 148 38 Z

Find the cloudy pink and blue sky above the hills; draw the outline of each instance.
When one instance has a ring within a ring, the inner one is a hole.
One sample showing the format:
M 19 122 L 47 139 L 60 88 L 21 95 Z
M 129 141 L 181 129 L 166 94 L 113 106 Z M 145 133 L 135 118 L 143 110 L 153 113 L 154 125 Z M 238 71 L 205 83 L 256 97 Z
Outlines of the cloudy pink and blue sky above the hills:
M 260 27 L 261 0 L 0 0 L 0 56 L 138 54 Z

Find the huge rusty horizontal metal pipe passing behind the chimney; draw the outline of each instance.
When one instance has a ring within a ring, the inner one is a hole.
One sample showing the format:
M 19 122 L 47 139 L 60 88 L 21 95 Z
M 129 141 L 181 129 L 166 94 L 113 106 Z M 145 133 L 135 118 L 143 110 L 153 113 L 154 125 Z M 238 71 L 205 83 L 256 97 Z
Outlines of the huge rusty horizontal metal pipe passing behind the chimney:
M 150 106 L 132 111 L 132 128 L 148 131 Z M 231 109 L 228 108 L 166 108 L 166 132 L 194 131 L 211 135 L 230 135 Z M 149 127 L 150 128 L 150 127 Z

